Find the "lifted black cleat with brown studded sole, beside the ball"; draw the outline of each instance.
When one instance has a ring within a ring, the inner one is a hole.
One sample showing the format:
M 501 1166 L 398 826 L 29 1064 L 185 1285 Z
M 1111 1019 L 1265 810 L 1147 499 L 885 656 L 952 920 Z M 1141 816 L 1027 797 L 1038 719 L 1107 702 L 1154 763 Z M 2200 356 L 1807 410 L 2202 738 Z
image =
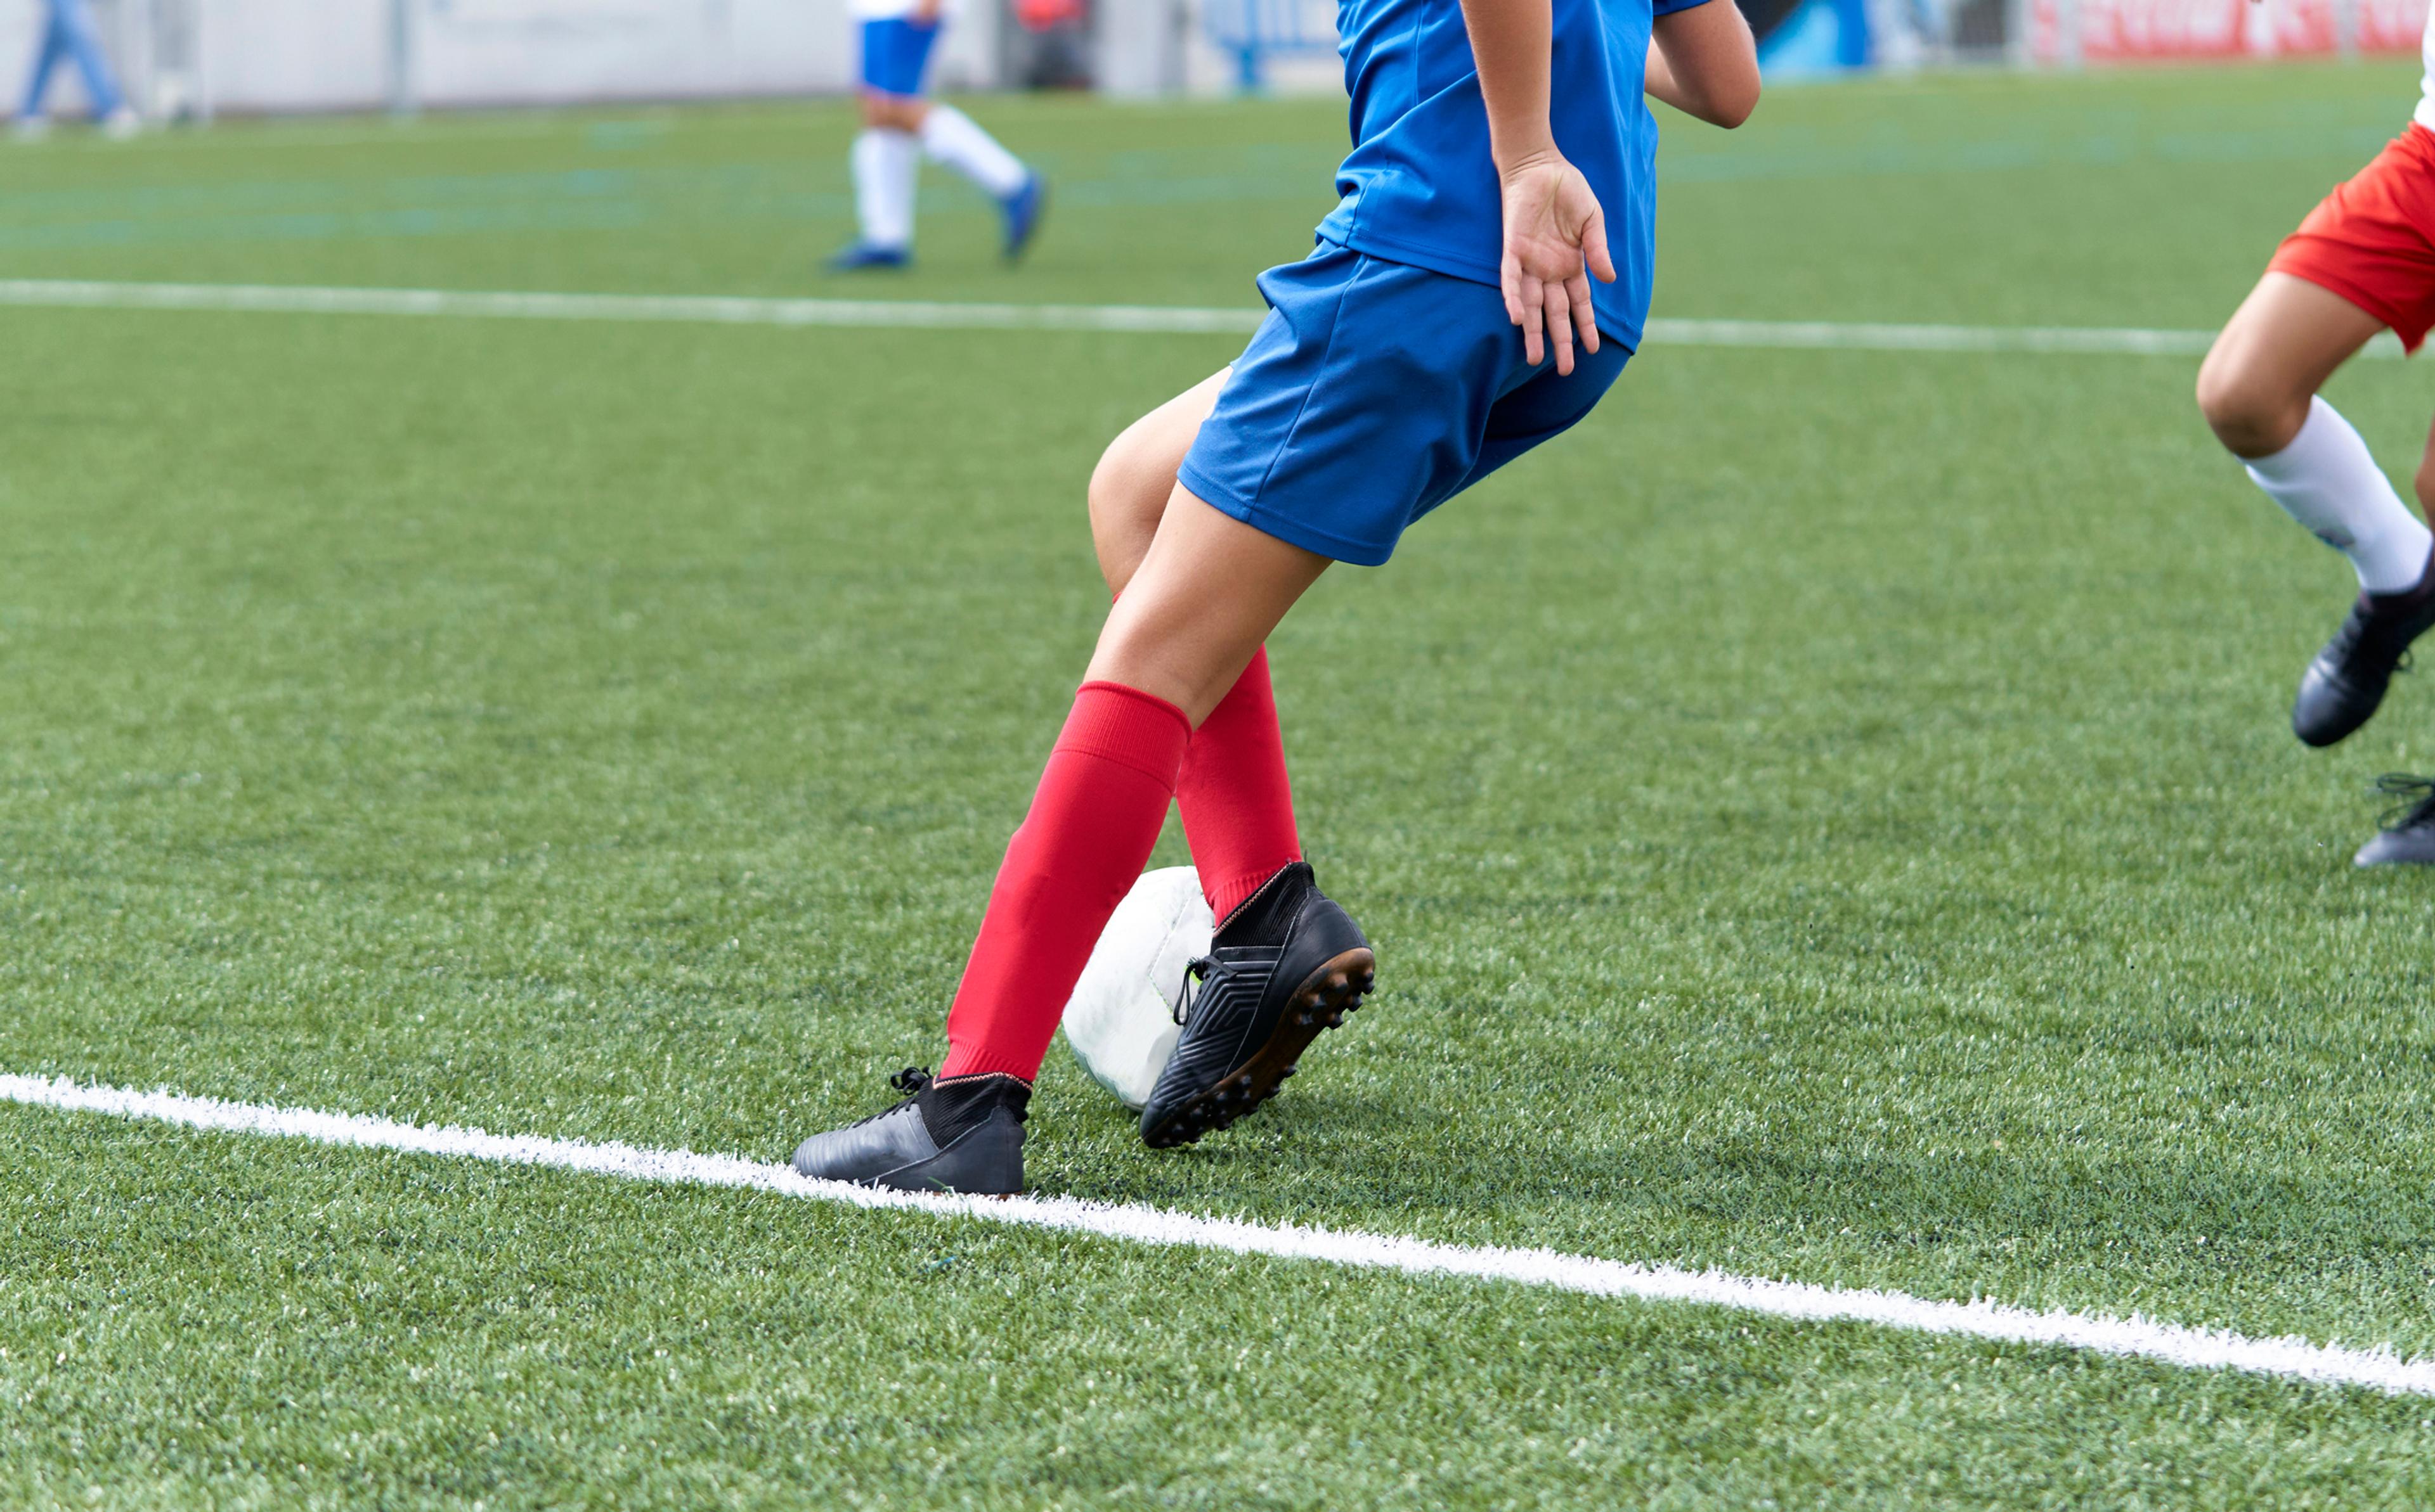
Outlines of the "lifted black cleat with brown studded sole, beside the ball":
M 1142 1108 L 1142 1139 L 1157 1149 L 1274 1098 L 1303 1049 L 1361 1006 L 1378 957 L 1310 862 L 1293 862 L 1227 915 L 1191 976 L 1200 989 L 1186 991 L 1183 1035 Z

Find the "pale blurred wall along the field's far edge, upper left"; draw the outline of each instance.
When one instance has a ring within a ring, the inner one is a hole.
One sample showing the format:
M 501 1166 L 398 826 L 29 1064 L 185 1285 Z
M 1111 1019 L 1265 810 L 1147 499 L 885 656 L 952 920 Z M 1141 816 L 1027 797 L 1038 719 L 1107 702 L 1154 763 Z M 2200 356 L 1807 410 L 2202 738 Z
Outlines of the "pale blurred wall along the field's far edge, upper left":
M 129 93 L 156 112 L 558 105 L 840 93 L 845 0 L 90 0 Z M 15 95 L 41 0 L 0 0 Z M 942 88 L 996 83 L 998 7 L 967 2 L 940 41 Z M 54 102 L 83 105 L 75 80 Z

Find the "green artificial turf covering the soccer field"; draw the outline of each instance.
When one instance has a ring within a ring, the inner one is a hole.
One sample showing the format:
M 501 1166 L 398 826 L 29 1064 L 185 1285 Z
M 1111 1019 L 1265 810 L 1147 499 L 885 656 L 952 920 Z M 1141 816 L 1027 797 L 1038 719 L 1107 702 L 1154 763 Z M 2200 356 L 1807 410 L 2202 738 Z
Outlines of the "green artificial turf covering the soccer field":
M 2398 66 L 1666 122 L 1658 312 L 2206 326 Z M 843 107 L 0 156 L 0 278 L 1244 304 L 1337 105 L 986 100 L 838 285 Z M 0 309 L 0 1071 L 782 1159 L 930 1062 L 1205 336 Z M 2194 363 L 1641 353 L 1278 633 L 1381 996 L 1045 1193 L 2435 1351 L 2425 694 Z M 2416 370 L 2342 375 L 2396 477 Z M 1176 835 L 1161 859 L 1181 862 Z M 0 1113 L 0 1497 L 2423 1505 L 2435 1402 Z

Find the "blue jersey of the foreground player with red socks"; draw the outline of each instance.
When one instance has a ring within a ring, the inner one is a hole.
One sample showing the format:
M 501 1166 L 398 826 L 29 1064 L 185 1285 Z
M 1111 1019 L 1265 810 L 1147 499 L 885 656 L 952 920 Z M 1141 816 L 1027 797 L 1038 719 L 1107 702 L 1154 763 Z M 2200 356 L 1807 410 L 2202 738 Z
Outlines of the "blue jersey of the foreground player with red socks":
M 1607 212 L 1614 282 L 1590 280 L 1597 329 L 1639 346 L 1656 261 L 1658 124 L 1641 100 L 1653 17 L 1704 0 L 1554 0 L 1549 114 L 1556 149 Z M 1337 246 L 1498 282 L 1505 209 L 1488 107 L 1459 0 L 1337 0 L 1354 151 L 1337 168 Z

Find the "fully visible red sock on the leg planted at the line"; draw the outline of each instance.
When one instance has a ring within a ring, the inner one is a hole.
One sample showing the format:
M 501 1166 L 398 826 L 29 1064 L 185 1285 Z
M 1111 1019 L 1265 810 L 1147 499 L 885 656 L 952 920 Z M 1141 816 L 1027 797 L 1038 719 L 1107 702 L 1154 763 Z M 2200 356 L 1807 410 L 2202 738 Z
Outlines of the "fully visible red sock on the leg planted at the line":
M 1159 842 L 1191 733 L 1166 699 L 1115 682 L 1074 694 L 1032 811 L 989 889 L 981 937 L 947 1010 L 940 1076 L 1040 1074 L 1098 933 Z

